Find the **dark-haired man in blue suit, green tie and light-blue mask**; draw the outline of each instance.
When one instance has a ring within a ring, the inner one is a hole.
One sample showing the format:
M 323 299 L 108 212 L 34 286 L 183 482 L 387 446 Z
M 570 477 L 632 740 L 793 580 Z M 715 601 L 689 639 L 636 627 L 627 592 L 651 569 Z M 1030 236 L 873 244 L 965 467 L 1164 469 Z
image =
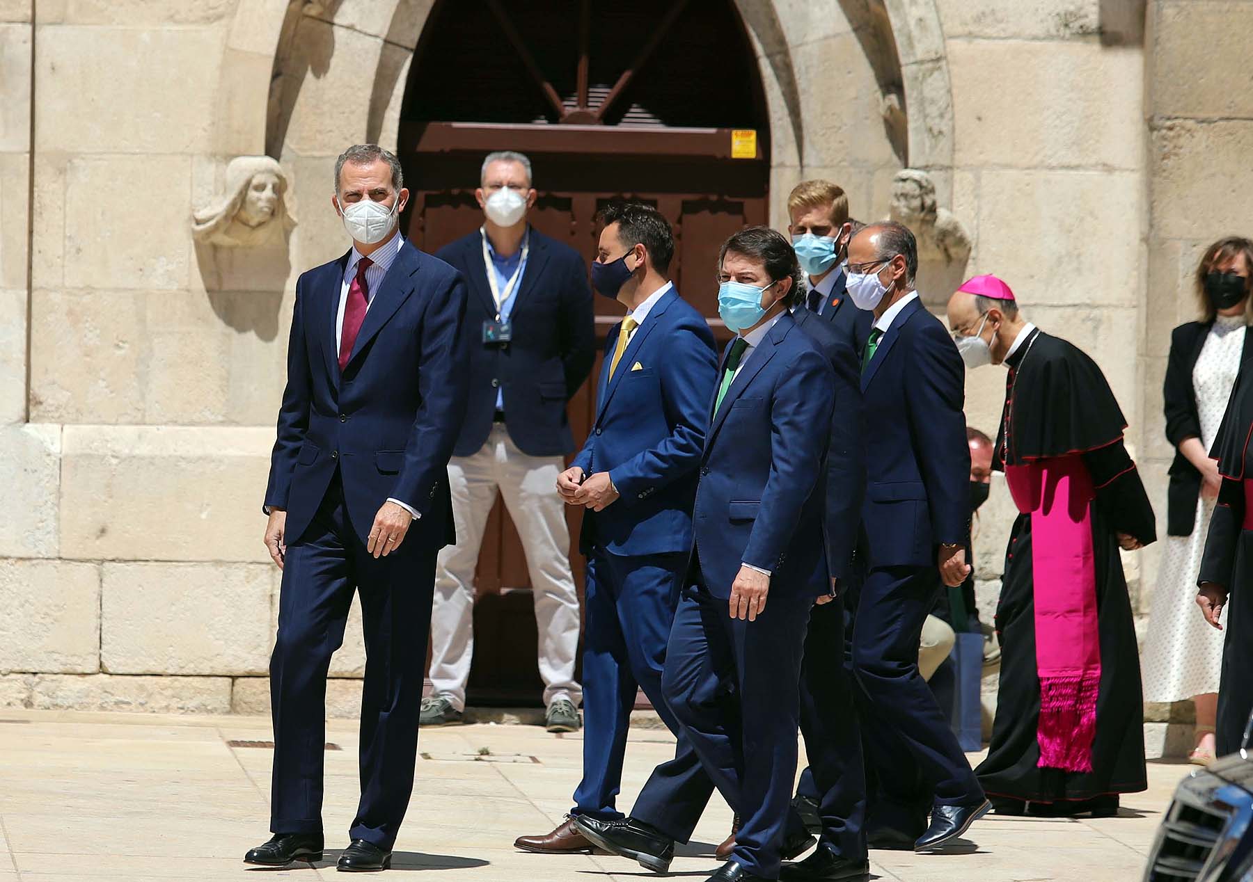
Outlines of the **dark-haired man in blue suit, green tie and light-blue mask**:
M 730 859 L 709 877 L 737 882 L 777 878 L 781 853 L 796 853 L 786 819 L 801 658 L 809 609 L 831 593 L 823 517 L 834 377 L 788 313 L 801 271 L 784 237 L 741 231 L 718 263 L 718 311 L 737 336 L 710 402 L 662 690 L 742 819 Z M 665 844 L 638 827 L 590 832 L 620 854 Z M 803 827 L 799 837 L 803 851 L 812 839 Z

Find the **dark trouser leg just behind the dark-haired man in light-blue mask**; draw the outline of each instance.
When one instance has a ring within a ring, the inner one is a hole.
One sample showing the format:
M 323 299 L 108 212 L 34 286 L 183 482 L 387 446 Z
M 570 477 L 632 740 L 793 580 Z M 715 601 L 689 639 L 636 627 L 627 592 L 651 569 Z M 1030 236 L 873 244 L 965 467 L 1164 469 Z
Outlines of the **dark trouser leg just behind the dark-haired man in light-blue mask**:
M 767 604 L 768 608 L 768 604 Z M 804 639 L 801 734 L 822 817 L 822 846 L 850 861 L 866 859 L 866 774 L 852 675 L 845 653 L 845 599 L 814 606 Z

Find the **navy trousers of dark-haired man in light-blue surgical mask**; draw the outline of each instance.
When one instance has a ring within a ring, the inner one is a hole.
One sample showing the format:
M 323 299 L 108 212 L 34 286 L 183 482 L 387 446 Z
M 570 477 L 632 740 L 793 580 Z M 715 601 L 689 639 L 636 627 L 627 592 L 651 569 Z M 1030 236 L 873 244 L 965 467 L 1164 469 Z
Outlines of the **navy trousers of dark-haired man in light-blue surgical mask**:
M 812 596 L 772 593 L 756 621 L 724 598 L 684 589 L 662 692 L 705 772 L 739 816 L 733 859 L 778 878 L 796 779 L 801 659 Z

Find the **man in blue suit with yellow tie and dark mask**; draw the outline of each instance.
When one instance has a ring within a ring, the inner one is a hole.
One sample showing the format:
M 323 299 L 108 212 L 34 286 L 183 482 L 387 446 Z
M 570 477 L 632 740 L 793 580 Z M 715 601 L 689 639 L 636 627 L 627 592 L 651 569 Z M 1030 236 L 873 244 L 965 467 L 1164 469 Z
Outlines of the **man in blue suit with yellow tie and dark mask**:
M 662 667 L 692 547 L 697 467 L 718 358 L 708 323 L 669 281 L 669 222 L 655 208 L 632 203 L 610 205 L 603 220 L 593 287 L 628 313 L 608 335 L 588 441 L 556 485 L 568 505 L 585 509 L 586 719 L 583 782 L 570 818 L 551 833 L 515 843 L 545 853 L 590 851 L 576 818 L 623 819 L 614 798 L 637 687 L 679 735 L 679 745 L 635 812 L 687 842 L 713 792 L 662 698 Z

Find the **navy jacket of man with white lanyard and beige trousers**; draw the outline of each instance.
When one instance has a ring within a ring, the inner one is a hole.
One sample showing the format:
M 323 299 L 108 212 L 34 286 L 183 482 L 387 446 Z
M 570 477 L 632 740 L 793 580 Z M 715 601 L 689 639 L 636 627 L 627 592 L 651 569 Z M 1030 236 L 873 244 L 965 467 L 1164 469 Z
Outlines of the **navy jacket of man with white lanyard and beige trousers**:
M 509 345 L 484 343 L 482 323 L 496 318 L 482 234 L 476 229 L 436 252 L 466 278 L 470 296 L 462 326 L 470 353 L 469 403 L 455 454 L 471 456 L 487 441 L 504 390 L 505 426 L 519 450 L 558 456 L 574 450 L 565 403 L 591 372 L 595 318 L 588 267 L 569 246 L 530 231 L 526 269 L 514 294 Z

